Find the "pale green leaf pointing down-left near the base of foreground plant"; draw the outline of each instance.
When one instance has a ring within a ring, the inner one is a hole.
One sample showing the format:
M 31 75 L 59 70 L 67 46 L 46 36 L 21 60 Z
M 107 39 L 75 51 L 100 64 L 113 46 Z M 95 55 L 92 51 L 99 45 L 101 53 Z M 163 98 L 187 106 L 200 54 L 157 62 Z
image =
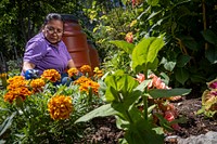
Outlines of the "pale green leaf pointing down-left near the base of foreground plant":
M 112 108 L 111 104 L 102 105 L 98 107 L 97 109 L 84 115 L 82 117 L 78 118 L 75 123 L 77 122 L 86 122 L 91 120 L 95 117 L 106 117 L 106 116 L 113 116 L 118 114 L 114 108 Z

